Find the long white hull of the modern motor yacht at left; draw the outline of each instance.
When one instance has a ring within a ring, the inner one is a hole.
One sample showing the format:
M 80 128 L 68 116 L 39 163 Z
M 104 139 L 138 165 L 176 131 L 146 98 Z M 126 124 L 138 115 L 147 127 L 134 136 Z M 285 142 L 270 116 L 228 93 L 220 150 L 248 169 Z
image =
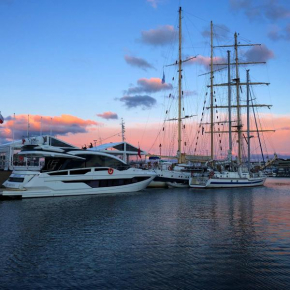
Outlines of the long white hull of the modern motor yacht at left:
M 125 171 L 114 170 L 113 174 L 109 174 L 107 169 L 103 171 L 94 171 L 92 169 L 85 174 L 78 173 L 77 175 L 73 174 L 73 170 L 66 175 L 61 175 L 60 172 L 57 175 L 53 175 L 53 172 L 50 174 L 39 172 L 12 173 L 8 181 L 3 184 L 8 190 L 4 189 L 2 198 L 137 192 L 145 189 L 155 177 L 154 172 L 132 168 Z M 23 179 L 23 182 L 13 182 L 17 178 Z

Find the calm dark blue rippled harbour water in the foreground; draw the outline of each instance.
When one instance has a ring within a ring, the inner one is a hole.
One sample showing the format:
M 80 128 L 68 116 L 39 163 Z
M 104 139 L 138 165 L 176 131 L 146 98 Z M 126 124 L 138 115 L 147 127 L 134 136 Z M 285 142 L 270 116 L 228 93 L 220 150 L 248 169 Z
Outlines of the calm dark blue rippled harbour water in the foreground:
M 290 179 L 0 201 L 1 289 L 290 289 Z

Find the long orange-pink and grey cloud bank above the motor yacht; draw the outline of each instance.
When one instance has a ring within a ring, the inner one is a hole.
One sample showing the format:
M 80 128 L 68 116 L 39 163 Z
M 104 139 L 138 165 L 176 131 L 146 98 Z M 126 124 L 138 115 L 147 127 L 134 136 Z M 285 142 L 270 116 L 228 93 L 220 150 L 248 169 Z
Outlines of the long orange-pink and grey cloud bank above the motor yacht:
M 27 115 L 16 115 L 15 122 L 12 116 L 5 118 L 5 123 L 0 127 L 1 141 L 5 139 L 12 140 L 13 129 L 15 139 L 27 136 L 27 119 Z M 30 136 L 38 136 L 41 128 L 43 135 L 50 134 L 50 129 L 52 129 L 53 135 L 87 133 L 91 126 L 99 124 L 92 120 L 83 120 L 71 115 L 54 117 L 29 115 L 29 134 Z

